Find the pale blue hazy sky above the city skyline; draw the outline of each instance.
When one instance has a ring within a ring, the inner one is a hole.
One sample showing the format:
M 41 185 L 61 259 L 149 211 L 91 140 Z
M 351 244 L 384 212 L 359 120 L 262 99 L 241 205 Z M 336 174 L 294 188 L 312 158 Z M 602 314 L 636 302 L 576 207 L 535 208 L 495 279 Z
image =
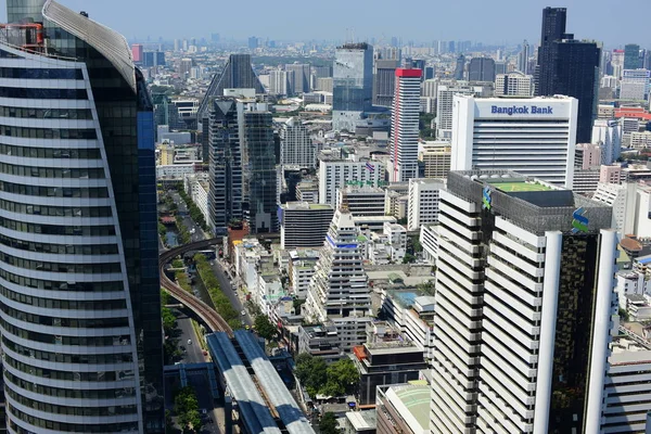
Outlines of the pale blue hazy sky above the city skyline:
M 356 40 L 392 36 L 403 41 L 472 40 L 485 43 L 540 38 L 542 8 L 567 8 L 567 29 L 608 47 L 651 48 L 651 0 L 59 0 L 127 38 L 224 37 Z M 0 0 L 4 22 L 7 0 Z

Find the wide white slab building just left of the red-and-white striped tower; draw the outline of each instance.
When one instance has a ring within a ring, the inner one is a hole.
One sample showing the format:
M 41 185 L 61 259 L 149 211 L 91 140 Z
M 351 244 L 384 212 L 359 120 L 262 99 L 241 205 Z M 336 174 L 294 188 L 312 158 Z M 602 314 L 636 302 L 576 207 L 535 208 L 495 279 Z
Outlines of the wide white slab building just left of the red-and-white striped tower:
M 319 202 L 336 205 L 336 191 L 346 186 L 379 187 L 384 165 L 373 161 L 350 161 L 322 156 L 319 162 Z

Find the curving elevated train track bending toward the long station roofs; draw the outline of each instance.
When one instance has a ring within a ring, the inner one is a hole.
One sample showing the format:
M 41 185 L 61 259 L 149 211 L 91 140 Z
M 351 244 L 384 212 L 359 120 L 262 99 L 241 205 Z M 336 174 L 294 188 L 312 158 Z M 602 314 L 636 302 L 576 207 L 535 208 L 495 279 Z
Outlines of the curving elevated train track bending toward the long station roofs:
M 181 286 L 176 284 L 171 279 L 165 275 L 165 267 L 167 264 L 177 257 L 192 251 L 202 251 L 206 247 L 216 245 L 221 242 L 220 238 L 213 238 L 208 240 L 196 241 L 193 243 L 184 244 L 179 247 L 170 248 L 163 252 L 158 256 L 158 269 L 161 271 L 161 286 L 167 291 L 173 297 L 182 303 L 186 307 L 196 315 L 196 317 L 204 323 L 204 326 L 212 332 L 226 332 L 229 336 L 233 335 L 233 331 L 228 323 L 221 318 L 219 314 L 215 311 L 203 301 L 199 299 Z

